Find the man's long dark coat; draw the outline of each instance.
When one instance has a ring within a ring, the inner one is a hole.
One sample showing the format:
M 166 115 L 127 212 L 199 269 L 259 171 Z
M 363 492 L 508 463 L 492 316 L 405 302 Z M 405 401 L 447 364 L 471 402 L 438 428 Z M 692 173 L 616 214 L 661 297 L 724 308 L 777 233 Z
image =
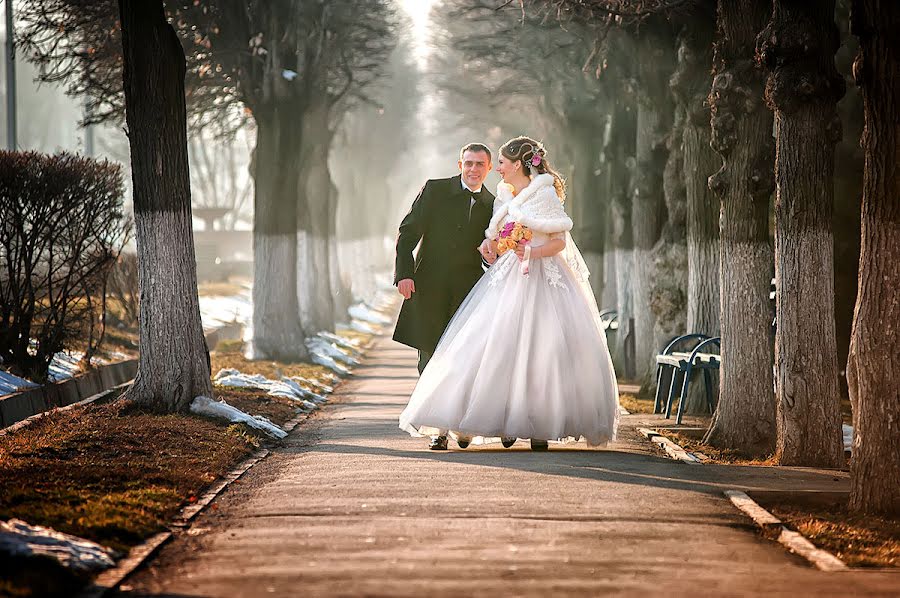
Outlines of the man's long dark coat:
M 394 284 L 411 278 L 416 292 L 403 302 L 395 341 L 434 353 L 453 314 L 484 273 L 478 246 L 493 206 L 494 196 L 484 186 L 472 193 L 459 176 L 425 183 L 397 235 Z

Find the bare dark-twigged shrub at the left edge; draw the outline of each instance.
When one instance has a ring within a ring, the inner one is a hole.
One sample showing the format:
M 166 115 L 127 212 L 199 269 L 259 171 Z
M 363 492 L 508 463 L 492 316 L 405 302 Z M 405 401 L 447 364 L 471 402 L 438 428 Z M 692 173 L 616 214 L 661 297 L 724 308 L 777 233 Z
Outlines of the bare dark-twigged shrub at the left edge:
M 102 340 L 122 196 L 117 164 L 0 151 L 0 357 L 19 373 L 44 380 L 54 354 Z

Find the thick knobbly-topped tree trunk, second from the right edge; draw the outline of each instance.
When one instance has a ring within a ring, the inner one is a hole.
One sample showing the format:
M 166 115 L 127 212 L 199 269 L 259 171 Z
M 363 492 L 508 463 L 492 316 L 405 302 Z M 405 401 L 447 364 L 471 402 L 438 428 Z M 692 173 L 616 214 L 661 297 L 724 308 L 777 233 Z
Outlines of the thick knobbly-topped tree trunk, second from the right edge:
M 776 0 L 759 36 L 775 112 L 776 459 L 844 461 L 834 327 L 834 146 L 844 80 L 834 1 Z

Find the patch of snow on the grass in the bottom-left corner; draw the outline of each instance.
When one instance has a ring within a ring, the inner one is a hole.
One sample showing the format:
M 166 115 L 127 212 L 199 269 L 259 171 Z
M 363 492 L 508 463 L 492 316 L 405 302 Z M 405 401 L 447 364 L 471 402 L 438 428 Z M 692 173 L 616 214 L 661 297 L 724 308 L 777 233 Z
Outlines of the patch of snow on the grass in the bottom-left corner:
M 115 553 L 108 548 L 48 527 L 30 525 L 21 519 L 0 521 L 0 554 L 49 556 L 79 573 L 94 573 L 116 564 Z

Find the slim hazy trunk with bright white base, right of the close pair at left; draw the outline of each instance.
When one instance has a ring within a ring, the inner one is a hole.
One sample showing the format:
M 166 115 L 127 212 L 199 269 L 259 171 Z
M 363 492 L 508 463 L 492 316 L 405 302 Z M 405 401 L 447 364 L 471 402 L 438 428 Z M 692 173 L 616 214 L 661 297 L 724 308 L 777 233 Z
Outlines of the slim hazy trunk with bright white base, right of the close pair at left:
M 332 135 L 328 105 L 313 104 L 303 117 L 304 147 L 298 171 L 301 211 L 297 221 L 301 247 L 297 294 L 303 327 L 310 332 L 334 330 L 328 241 L 332 185 L 328 152 Z

